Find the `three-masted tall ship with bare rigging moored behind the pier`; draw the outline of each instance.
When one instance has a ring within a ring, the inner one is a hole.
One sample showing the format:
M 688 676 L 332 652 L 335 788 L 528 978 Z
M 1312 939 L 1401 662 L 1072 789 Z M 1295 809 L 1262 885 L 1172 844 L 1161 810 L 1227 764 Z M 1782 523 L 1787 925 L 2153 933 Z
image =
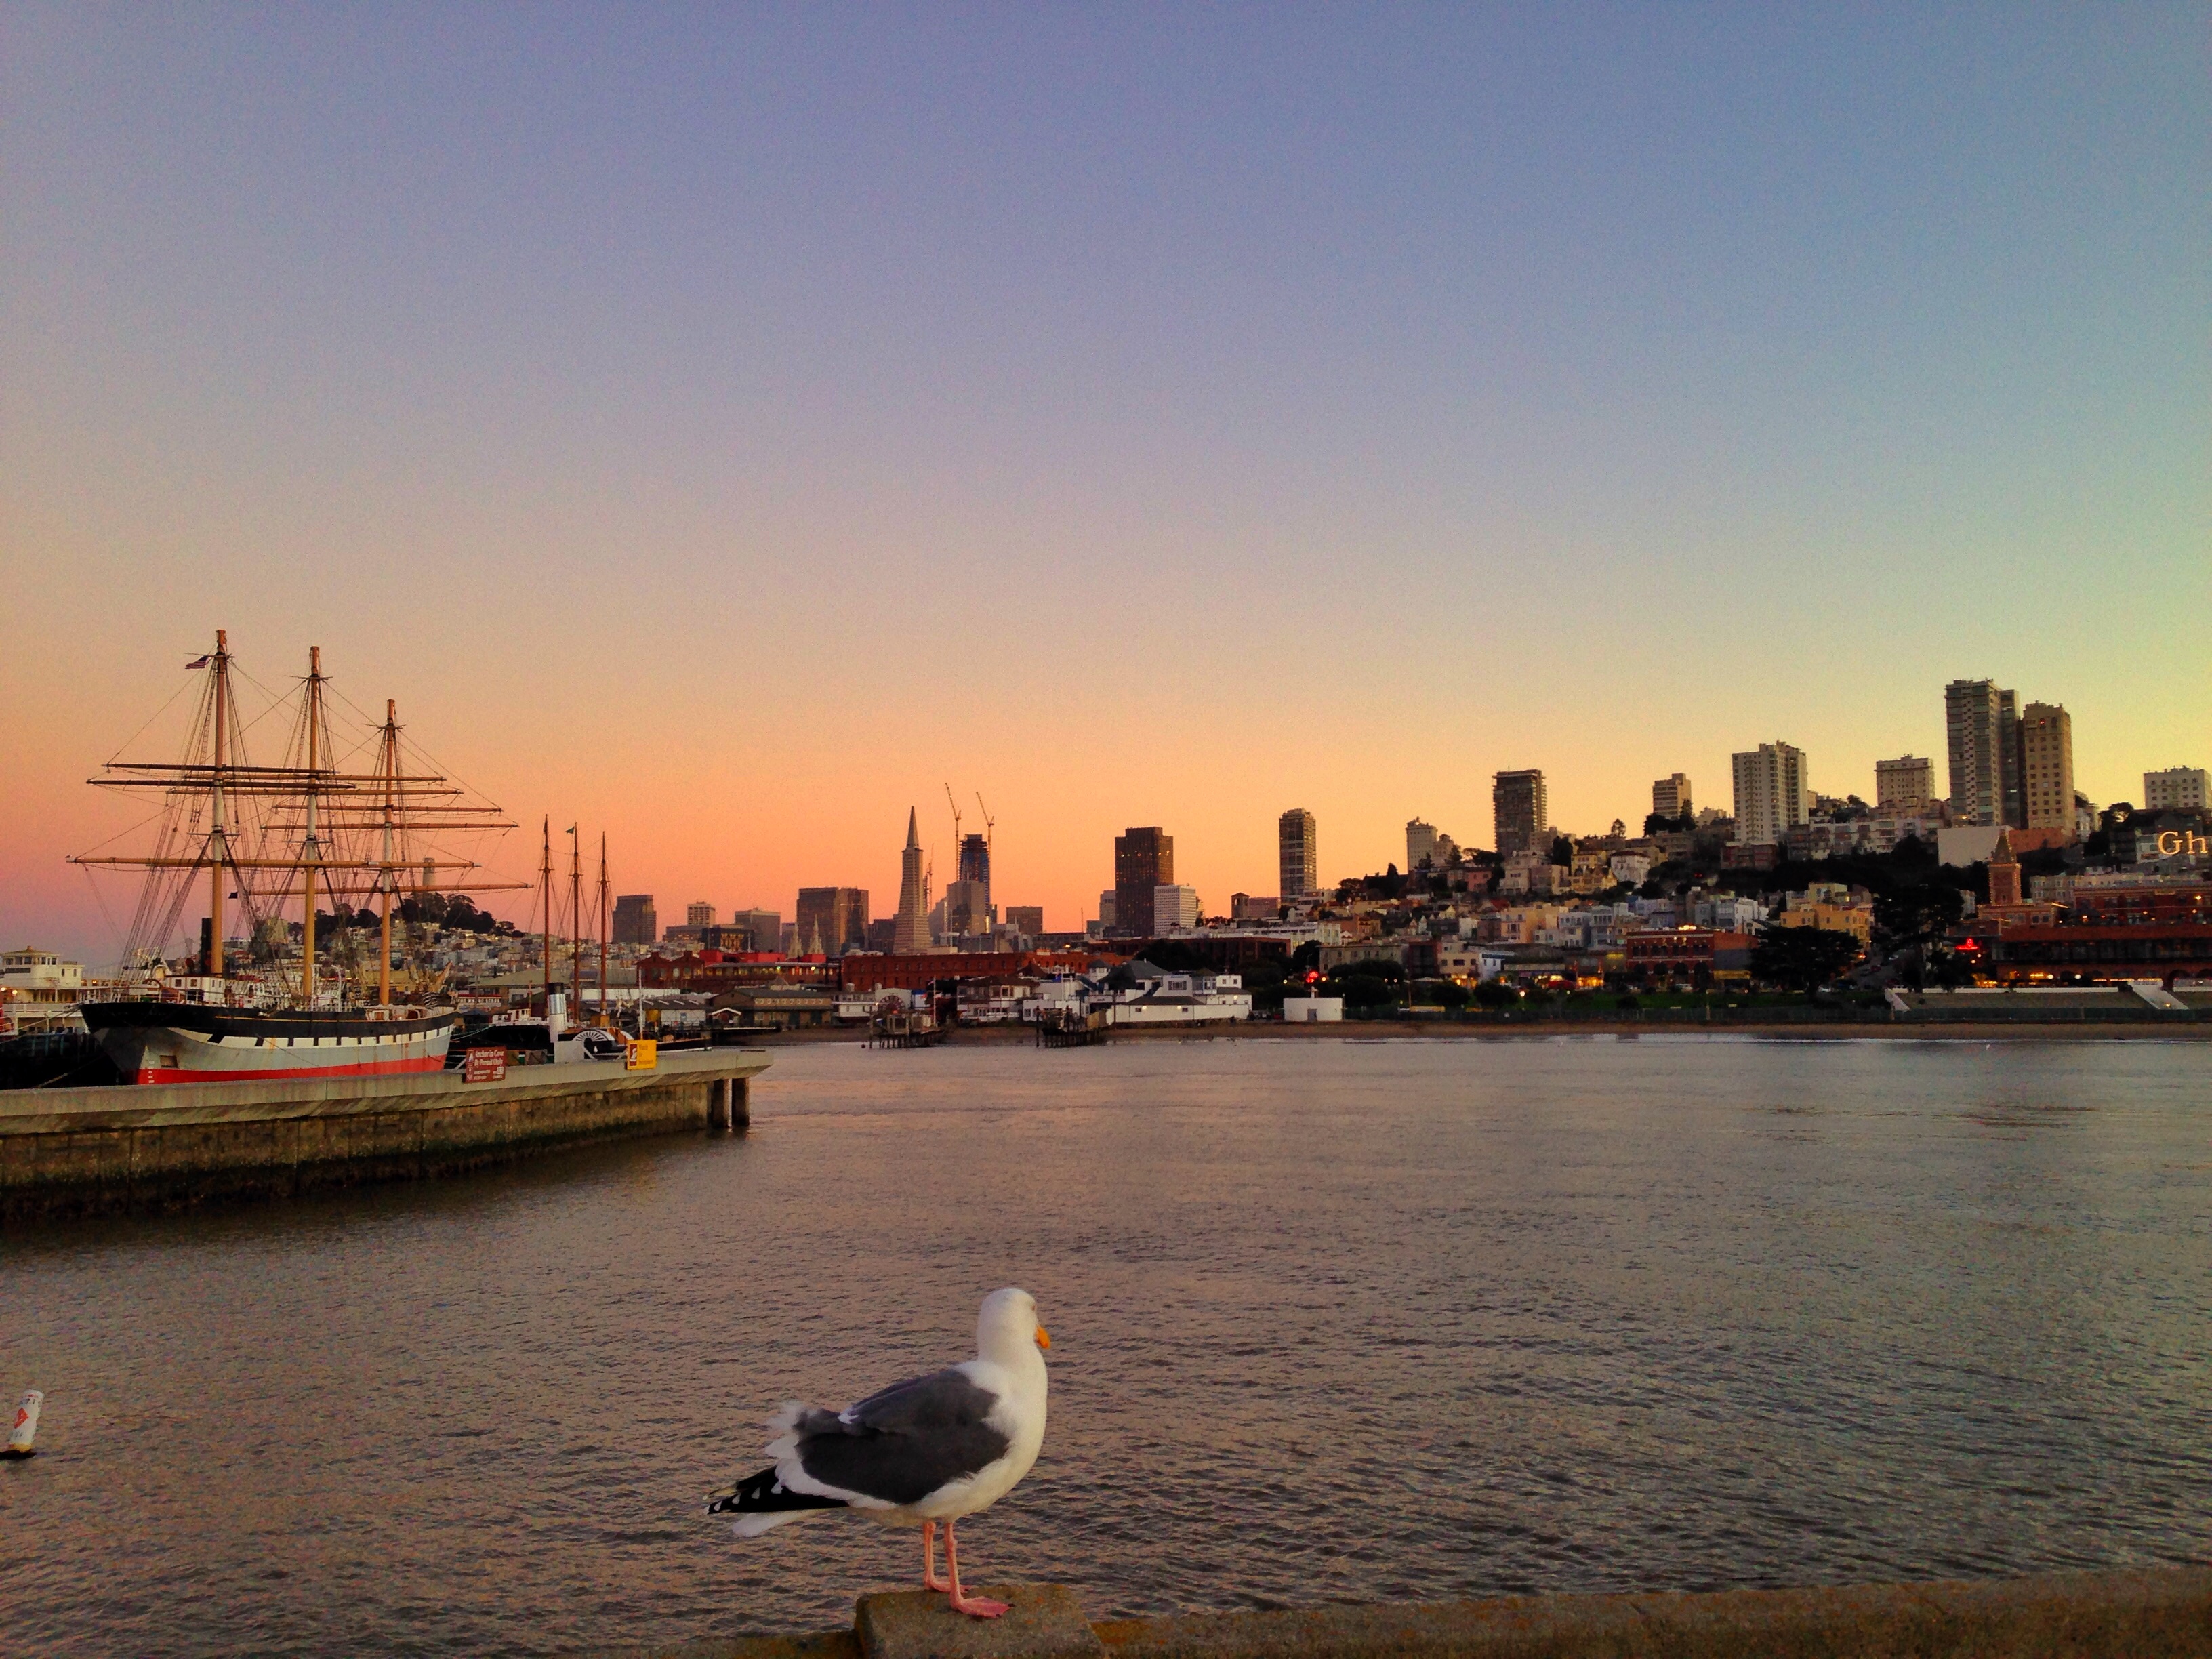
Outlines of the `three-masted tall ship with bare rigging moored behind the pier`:
M 323 653 L 307 653 L 296 695 L 241 721 L 230 637 L 186 664 L 197 708 L 179 761 L 113 759 L 91 779 L 150 792 L 153 841 L 137 854 L 84 854 L 91 869 L 144 872 L 124 942 L 124 991 L 84 1002 L 86 1031 L 124 1082 L 383 1077 L 445 1066 L 458 1015 L 436 1006 L 436 982 L 394 975 L 392 911 L 425 894 L 522 883 L 467 880 L 480 865 L 451 852 L 480 832 L 513 830 L 500 807 L 425 765 L 403 739 L 398 703 L 332 741 Z M 338 697 L 343 701 L 343 697 Z M 290 719 L 279 719 L 290 710 Z M 148 721 L 150 726 L 153 721 Z M 283 730 L 276 765 L 254 763 L 248 737 Z M 166 956 L 188 905 L 206 896 L 199 949 Z M 372 909 L 376 927 L 361 927 Z M 325 909 L 327 907 L 327 914 Z M 299 916 L 294 958 L 292 916 Z M 243 956 L 230 929 L 241 925 Z M 332 964 L 321 956 L 338 931 Z M 361 949 L 358 936 L 376 945 Z M 374 967 L 372 967 L 374 964 Z M 398 998 L 394 995 L 398 991 Z

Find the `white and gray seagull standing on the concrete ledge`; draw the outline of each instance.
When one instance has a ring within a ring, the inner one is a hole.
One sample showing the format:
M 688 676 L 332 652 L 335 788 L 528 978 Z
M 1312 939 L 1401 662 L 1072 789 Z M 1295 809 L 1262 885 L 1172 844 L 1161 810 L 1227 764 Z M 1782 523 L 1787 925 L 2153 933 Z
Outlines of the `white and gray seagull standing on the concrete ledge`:
M 993 1290 L 975 1316 L 975 1358 L 869 1394 L 843 1411 L 787 1400 L 768 1420 L 770 1469 L 712 1495 L 759 1537 L 818 1509 L 856 1509 L 883 1526 L 922 1528 L 922 1588 L 949 1590 L 953 1613 L 995 1619 L 1004 1601 L 960 1588 L 953 1522 L 989 1509 L 1044 1444 L 1044 1354 L 1051 1334 L 1026 1290 Z M 938 1577 L 938 1522 L 945 1571 Z

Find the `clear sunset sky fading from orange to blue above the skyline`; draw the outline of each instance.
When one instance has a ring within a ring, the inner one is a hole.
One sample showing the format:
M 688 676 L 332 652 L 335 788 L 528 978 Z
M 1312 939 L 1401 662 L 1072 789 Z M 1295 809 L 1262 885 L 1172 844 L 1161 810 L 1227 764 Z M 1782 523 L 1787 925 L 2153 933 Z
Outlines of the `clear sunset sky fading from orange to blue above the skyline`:
M 889 914 L 947 781 L 1055 929 L 1124 825 L 1225 909 L 1498 768 L 1942 787 L 1960 675 L 2139 799 L 2212 765 L 2205 24 L 9 7 L 0 942 L 113 960 L 84 779 L 217 626 L 664 920 Z

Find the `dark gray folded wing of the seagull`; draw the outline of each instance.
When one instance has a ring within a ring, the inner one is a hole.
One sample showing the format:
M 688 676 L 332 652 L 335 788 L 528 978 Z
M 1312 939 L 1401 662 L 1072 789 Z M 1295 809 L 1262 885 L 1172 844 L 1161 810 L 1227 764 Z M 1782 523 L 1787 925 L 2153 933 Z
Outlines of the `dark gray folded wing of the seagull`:
M 918 1504 L 1006 1455 L 1011 1442 L 987 1422 L 995 1405 L 960 1369 L 907 1378 L 836 1416 L 807 1411 L 794 1425 L 799 1467 L 836 1491 Z

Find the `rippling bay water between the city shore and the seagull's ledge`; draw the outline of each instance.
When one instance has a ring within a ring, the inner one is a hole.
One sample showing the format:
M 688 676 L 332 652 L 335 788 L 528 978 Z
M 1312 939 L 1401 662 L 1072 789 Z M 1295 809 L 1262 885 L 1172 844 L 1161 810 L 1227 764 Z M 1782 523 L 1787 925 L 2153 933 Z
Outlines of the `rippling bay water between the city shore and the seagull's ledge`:
M 787 1048 L 745 1139 L 13 1234 L 9 1652 L 560 1652 L 911 1577 L 701 1495 L 1053 1332 L 971 1582 L 1175 1608 L 2199 1562 L 2212 1048 Z

